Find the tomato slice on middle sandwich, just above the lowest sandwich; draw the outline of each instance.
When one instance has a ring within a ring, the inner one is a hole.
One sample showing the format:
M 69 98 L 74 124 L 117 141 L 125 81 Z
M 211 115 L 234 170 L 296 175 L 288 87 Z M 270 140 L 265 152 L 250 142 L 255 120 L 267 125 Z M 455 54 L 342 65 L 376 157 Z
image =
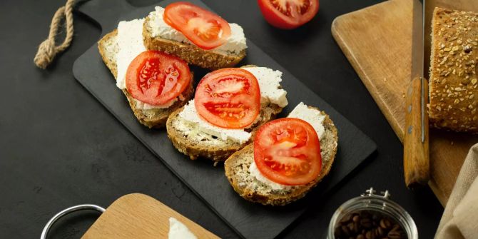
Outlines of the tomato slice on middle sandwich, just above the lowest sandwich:
M 205 121 L 222 128 L 245 128 L 258 117 L 258 80 L 241 68 L 223 68 L 198 83 L 195 108 Z

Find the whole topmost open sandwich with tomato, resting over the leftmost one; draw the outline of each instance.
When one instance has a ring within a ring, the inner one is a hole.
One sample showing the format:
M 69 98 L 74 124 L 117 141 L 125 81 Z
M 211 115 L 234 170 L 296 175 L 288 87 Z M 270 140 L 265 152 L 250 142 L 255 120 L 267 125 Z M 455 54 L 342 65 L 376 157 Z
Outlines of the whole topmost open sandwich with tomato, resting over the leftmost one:
M 144 21 L 143 38 L 147 49 L 210 69 L 235 66 L 247 48 L 242 27 L 188 2 L 156 6 Z

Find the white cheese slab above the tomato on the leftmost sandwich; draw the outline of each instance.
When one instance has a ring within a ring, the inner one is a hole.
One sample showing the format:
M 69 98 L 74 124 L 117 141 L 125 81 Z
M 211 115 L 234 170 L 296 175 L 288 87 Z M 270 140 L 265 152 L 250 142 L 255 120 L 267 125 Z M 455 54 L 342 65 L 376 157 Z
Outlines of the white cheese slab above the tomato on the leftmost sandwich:
M 120 21 L 118 24 L 118 54 L 116 54 L 116 86 L 126 88 L 126 71 L 128 66 L 141 52 L 146 51 L 143 44 L 144 19 Z

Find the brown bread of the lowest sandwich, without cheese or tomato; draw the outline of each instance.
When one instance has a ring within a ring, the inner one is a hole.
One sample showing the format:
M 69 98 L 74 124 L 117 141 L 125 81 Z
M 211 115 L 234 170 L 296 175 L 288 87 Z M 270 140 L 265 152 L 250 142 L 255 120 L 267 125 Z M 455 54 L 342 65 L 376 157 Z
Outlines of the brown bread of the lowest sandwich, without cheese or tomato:
M 309 106 L 309 108 L 314 107 Z M 315 109 L 320 111 L 318 108 Z M 337 153 L 338 136 L 337 128 L 330 117 L 323 111 L 320 113 L 325 115 L 323 121 L 325 135 L 320 140 L 322 170 L 315 180 L 306 185 L 290 186 L 284 189 L 273 188 L 269 184 L 261 182 L 249 173 L 249 167 L 254 161 L 254 144 L 250 143 L 240 151 L 233 153 L 224 163 L 225 176 L 235 192 L 245 200 L 254 203 L 286 205 L 304 197 L 322 178 L 327 176 Z

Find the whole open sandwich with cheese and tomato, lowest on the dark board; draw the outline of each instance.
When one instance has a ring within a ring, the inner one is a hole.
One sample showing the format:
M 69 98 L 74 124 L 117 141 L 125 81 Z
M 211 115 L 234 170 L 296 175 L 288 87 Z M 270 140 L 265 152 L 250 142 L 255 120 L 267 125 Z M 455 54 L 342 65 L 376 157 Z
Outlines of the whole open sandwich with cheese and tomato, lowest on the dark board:
M 254 142 L 225 161 L 225 176 L 246 200 L 285 205 L 305 196 L 329 173 L 337 140 L 329 116 L 300 103 L 288 118 L 260 126 Z

